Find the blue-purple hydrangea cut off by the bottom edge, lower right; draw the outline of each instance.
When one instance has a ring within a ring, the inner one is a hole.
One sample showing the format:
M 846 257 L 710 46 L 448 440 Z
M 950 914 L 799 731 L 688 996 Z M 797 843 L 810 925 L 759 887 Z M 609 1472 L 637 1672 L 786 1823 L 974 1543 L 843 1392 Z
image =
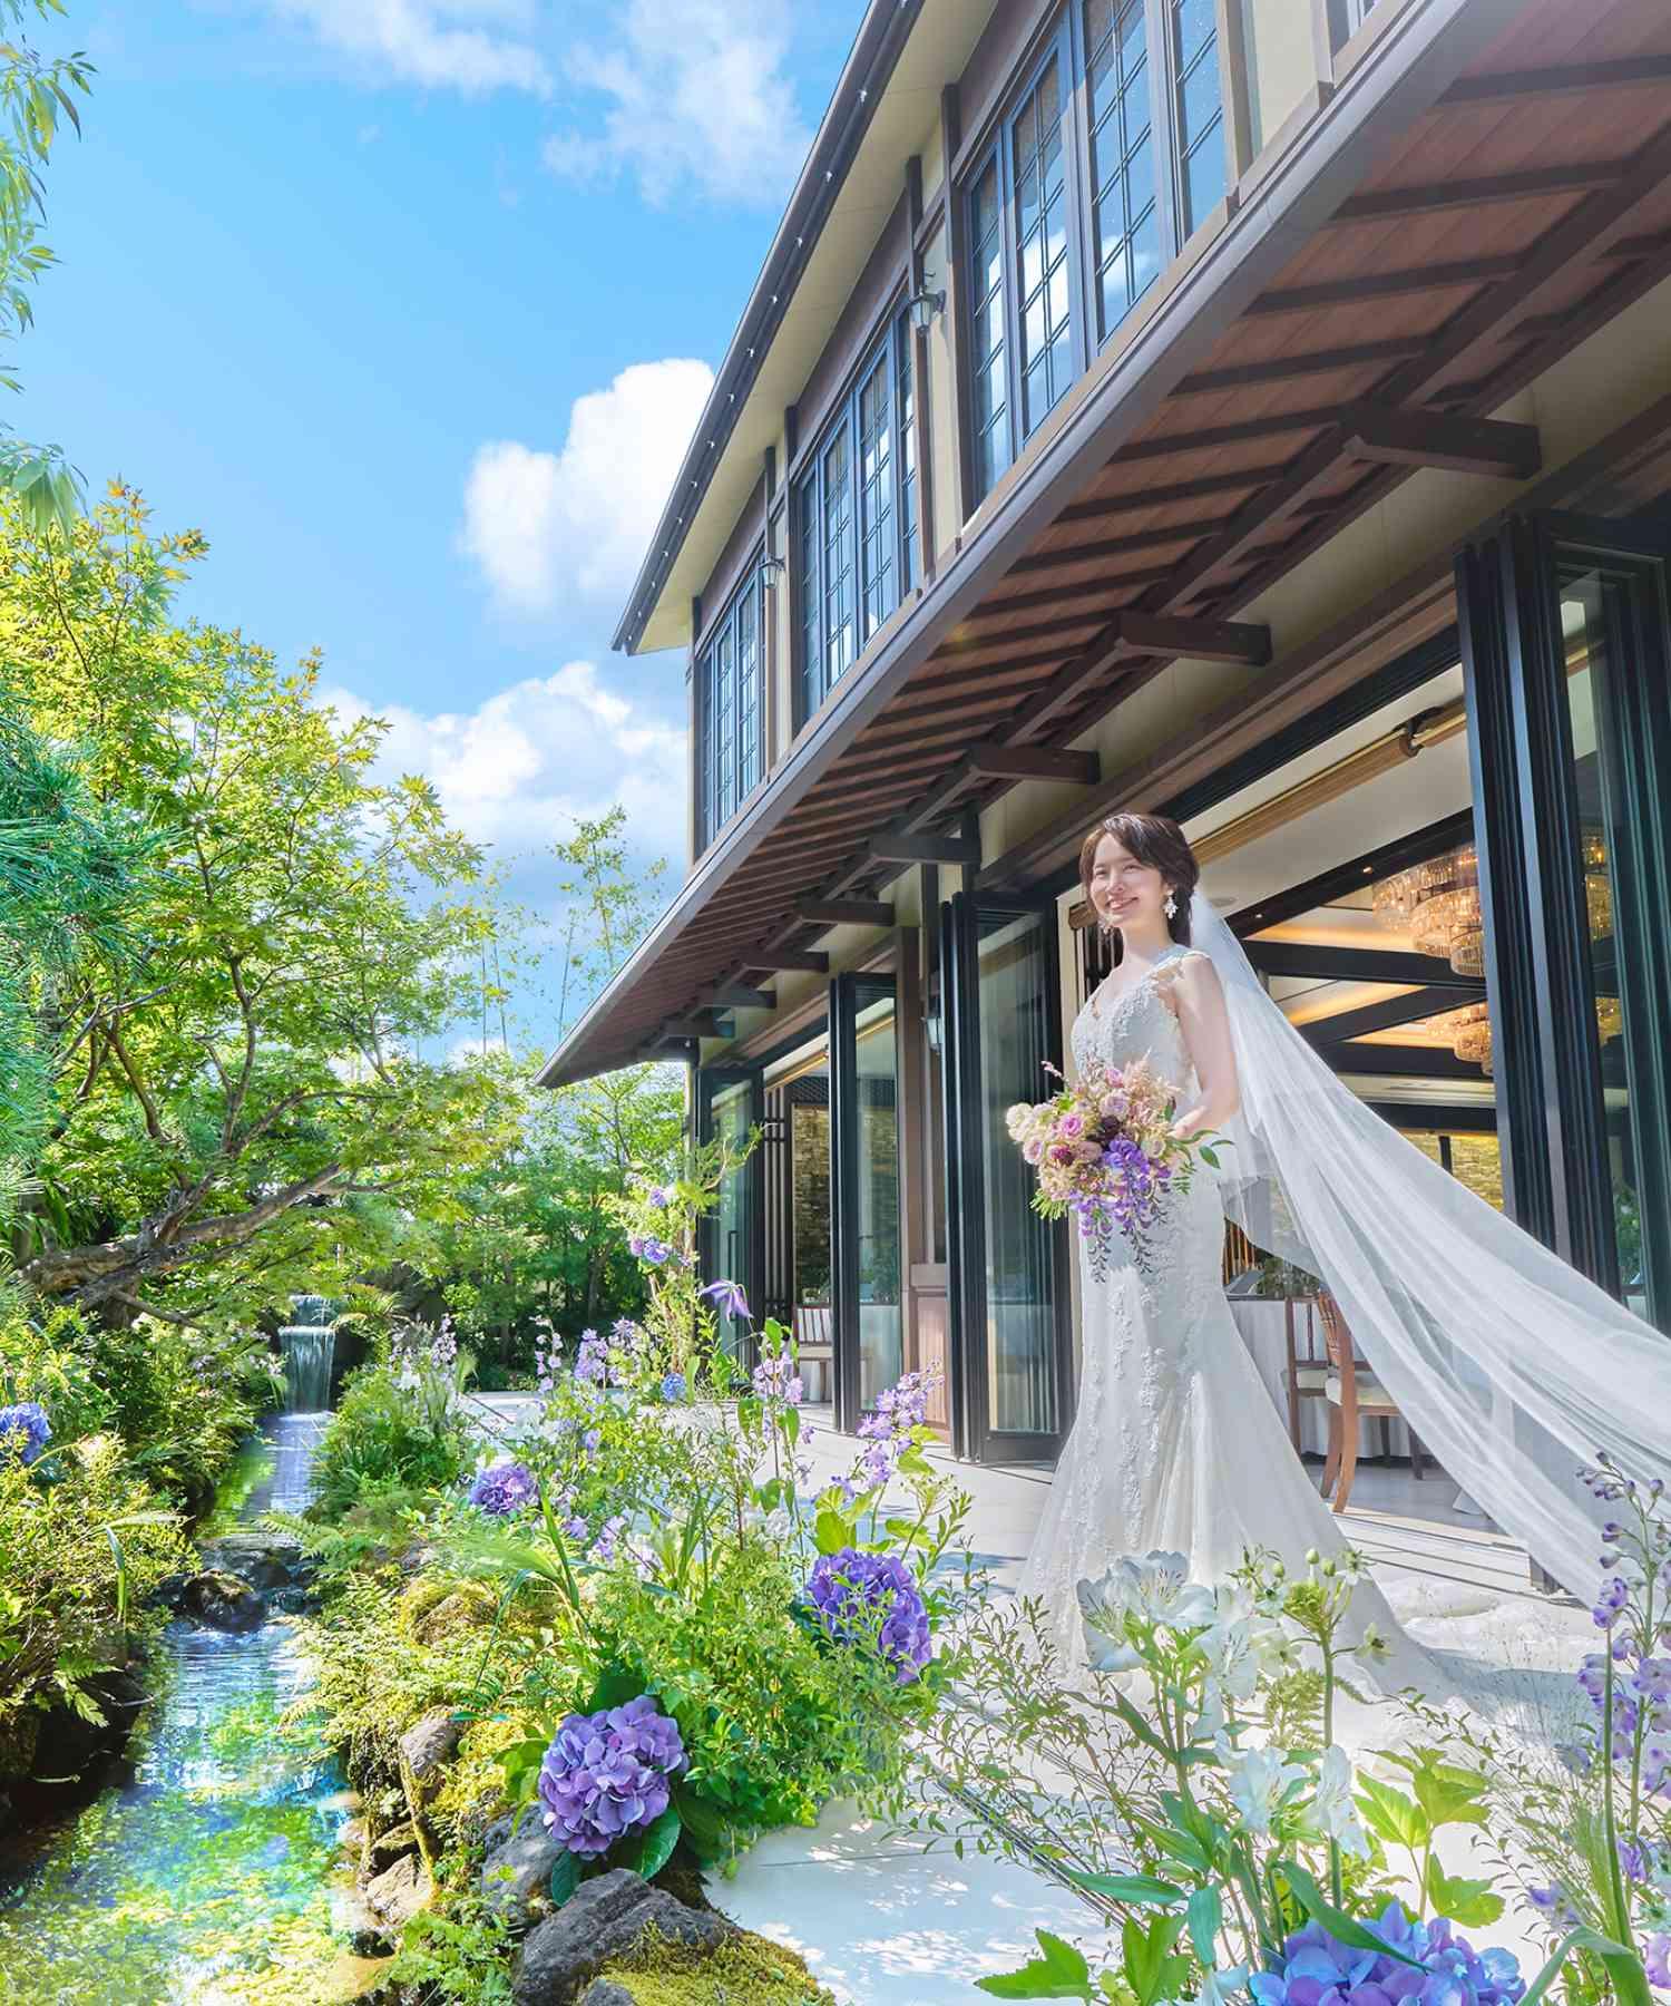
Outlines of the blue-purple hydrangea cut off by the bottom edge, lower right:
M 1517 2006 L 1527 1990 L 1511 1950 L 1474 1950 L 1442 1918 L 1416 1922 L 1388 1902 L 1374 1930 L 1418 1962 L 1342 1944 L 1308 1922 L 1276 1970 L 1256 1972 L 1248 1988 L 1258 2006 Z

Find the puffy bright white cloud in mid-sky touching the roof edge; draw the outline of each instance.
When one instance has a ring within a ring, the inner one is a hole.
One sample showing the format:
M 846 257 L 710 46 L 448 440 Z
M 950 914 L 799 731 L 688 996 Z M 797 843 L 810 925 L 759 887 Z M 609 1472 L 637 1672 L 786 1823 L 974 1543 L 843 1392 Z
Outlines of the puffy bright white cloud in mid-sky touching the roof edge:
M 714 373 L 698 361 L 634 363 L 576 397 L 558 453 L 493 439 L 463 489 L 463 550 L 495 602 L 546 614 L 626 598 Z

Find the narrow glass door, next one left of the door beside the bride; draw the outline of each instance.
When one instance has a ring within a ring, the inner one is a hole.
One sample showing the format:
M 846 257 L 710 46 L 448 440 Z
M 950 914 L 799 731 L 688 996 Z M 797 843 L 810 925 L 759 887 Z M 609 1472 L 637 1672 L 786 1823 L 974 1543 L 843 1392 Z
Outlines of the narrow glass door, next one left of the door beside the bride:
M 905 1370 L 899 1232 L 899 1011 L 891 979 L 830 985 L 837 1426 L 855 1428 Z

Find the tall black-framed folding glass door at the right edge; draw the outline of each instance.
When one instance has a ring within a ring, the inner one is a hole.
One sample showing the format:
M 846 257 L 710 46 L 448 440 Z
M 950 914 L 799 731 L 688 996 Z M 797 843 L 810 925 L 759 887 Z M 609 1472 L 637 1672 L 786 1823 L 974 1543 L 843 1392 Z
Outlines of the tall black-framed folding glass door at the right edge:
M 1511 1214 L 1671 1330 L 1663 530 L 1511 518 L 1458 564 Z

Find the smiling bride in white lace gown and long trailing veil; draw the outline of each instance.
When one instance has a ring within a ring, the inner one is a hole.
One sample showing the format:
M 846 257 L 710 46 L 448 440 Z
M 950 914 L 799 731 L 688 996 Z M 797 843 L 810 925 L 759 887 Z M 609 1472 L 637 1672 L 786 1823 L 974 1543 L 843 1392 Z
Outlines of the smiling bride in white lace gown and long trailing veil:
M 1310 1549 L 1342 1551 L 1224 1298 L 1226 1214 L 1322 1278 L 1448 1474 L 1587 1591 L 1595 1507 L 1579 1466 L 1607 1450 L 1639 1476 L 1671 1470 L 1671 1346 L 1328 1071 L 1198 895 L 1176 822 L 1109 816 L 1079 877 L 1123 953 L 1073 1025 L 1075 1069 L 1147 1057 L 1180 1089 L 1176 1133 L 1228 1147 L 1165 1202 L 1147 1272 L 1119 1240 L 1101 1276 L 1081 1252 L 1079 1406 L 1021 1581 L 1063 1661 L 1083 1659 L 1077 1583 L 1121 1555 L 1176 1551 L 1214 1583 L 1248 1547 L 1290 1571 Z M 1368 1585 L 1354 1613 L 1396 1639 Z M 1398 1657 L 1414 1671 L 1412 1649 Z M 1378 1683 L 1404 1683 L 1398 1671 Z

